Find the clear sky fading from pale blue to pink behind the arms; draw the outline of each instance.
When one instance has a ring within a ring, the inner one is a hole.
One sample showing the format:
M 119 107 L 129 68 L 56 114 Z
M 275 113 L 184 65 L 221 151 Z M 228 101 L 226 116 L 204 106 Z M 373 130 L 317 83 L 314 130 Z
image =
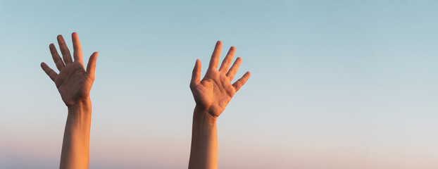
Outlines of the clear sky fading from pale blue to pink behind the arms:
M 187 168 L 189 80 L 217 40 L 251 71 L 218 168 L 438 168 L 437 18 L 437 1 L 0 1 L 0 168 L 58 168 L 67 108 L 39 63 L 72 32 L 99 51 L 90 168 Z

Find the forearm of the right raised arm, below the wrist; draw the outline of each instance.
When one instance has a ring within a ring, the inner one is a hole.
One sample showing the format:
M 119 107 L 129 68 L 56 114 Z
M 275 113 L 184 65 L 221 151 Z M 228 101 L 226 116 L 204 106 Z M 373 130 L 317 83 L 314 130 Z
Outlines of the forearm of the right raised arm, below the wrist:
M 197 107 L 193 113 L 192 148 L 189 159 L 189 169 L 194 168 L 218 168 L 216 118 Z

